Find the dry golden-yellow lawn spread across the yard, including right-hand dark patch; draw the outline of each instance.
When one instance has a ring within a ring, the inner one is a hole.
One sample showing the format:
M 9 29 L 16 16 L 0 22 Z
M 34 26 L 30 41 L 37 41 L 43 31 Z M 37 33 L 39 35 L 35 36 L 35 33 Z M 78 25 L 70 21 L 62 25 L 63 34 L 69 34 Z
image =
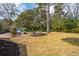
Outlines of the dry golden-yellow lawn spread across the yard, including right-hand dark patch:
M 43 36 L 26 34 L 11 37 L 11 41 L 24 45 L 24 53 L 31 56 L 79 56 L 79 34 L 51 32 Z

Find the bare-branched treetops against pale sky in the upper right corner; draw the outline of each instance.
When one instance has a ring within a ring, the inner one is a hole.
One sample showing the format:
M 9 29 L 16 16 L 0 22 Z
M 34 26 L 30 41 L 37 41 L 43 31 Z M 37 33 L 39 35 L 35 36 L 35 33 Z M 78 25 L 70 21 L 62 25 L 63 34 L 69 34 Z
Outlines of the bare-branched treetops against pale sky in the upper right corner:
M 79 18 L 79 3 L 64 4 L 64 6 L 65 6 L 65 8 L 64 8 L 64 10 L 65 10 L 64 16 L 66 18 L 71 18 L 71 19 L 78 19 Z

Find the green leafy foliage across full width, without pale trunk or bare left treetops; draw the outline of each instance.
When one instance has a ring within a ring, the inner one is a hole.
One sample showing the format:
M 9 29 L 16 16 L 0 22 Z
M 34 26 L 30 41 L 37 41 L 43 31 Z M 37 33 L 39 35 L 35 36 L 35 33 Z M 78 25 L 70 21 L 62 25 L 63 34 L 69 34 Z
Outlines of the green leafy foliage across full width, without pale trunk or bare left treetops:
M 15 24 L 16 28 L 21 29 L 22 32 L 47 31 L 47 28 L 48 30 L 58 32 L 79 32 L 78 10 L 77 12 L 75 11 L 75 15 L 73 14 L 74 12 L 71 11 L 70 7 L 67 6 L 68 10 L 65 12 L 65 4 L 55 3 L 54 13 L 49 14 L 49 12 L 46 11 L 48 4 L 37 3 L 37 5 L 38 7 L 34 9 L 23 11 L 14 22 L 11 19 L 12 17 L 9 19 L 5 18 L 4 20 L 1 20 L 0 31 L 9 32 L 10 27 Z M 76 4 L 75 8 L 78 9 L 78 4 Z M 49 17 L 48 14 L 50 15 Z M 71 14 L 75 16 L 73 17 Z

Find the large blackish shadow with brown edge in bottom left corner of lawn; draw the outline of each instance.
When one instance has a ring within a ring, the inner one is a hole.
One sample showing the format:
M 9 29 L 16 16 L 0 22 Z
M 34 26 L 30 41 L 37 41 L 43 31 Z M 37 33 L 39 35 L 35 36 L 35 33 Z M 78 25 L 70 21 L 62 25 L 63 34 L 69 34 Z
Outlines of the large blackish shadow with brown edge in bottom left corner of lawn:
M 2 39 L 2 40 L 1 40 Z M 6 41 L 8 38 L 0 38 L 0 56 L 20 56 L 27 55 L 26 45 L 17 44 L 11 41 Z M 23 51 L 25 53 L 23 53 Z

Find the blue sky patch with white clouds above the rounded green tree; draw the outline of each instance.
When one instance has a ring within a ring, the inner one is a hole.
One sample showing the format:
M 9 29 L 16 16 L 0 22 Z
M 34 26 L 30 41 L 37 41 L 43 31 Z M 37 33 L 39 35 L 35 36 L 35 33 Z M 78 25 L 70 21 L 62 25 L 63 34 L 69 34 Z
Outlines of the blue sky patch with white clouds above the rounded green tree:
M 35 3 L 16 3 L 16 7 L 18 8 L 18 10 L 20 11 L 19 14 L 25 10 L 28 9 L 34 9 L 36 8 L 36 4 Z M 15 20 L 18 16 L 16 16 L 15 18 L 13 18 L 13 20 Z

